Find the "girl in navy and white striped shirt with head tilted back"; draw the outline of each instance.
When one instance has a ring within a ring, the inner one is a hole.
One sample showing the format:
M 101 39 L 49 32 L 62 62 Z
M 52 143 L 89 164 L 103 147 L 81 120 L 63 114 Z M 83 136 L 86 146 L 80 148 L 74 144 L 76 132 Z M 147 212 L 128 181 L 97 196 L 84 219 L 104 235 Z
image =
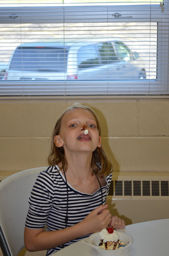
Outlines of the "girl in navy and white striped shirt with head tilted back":
M 124 228 L 124 221 L 112 217 L 105 204 L 113 168 L 89 107 L 75 105 L 57 120 L 48 162 L 29 199 L 24 233 L 28 250 L 47 249 L 51 255 L 108 226 Z

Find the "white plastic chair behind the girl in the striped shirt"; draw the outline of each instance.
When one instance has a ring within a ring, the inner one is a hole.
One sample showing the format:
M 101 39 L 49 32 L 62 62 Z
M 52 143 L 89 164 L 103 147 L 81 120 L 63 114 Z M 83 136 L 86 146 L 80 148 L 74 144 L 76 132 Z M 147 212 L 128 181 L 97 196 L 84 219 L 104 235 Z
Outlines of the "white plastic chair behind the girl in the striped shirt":
M 21 171 L 0 182 L 0 245 L 4 256 L 24 248 L 28 199 L 38 174 L 46 167 Z

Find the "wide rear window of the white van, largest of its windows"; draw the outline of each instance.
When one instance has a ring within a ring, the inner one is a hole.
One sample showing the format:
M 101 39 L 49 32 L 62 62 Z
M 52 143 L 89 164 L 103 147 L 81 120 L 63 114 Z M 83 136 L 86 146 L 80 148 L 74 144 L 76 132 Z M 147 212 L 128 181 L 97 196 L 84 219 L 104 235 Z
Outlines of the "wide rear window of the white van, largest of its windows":
M 56 47 L 18 47 L 10 69 L 24 71 L 64 72 L 68 50 Z

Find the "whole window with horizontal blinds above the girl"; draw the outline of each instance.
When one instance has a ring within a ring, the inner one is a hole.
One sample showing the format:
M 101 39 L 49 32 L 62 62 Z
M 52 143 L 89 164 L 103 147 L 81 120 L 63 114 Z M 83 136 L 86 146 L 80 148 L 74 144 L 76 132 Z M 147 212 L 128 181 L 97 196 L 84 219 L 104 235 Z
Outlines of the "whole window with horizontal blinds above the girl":
M 169 0 L 3 0 L 0 95 L 166 95 Z

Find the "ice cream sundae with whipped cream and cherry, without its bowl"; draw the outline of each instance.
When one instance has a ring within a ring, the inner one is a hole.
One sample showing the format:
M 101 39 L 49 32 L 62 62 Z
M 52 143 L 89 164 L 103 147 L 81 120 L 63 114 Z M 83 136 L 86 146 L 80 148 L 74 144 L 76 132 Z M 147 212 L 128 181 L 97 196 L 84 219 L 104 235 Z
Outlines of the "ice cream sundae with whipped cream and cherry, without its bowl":
M 104 228 L 99 233 L 101 238 L 101 242 L 99 243 L 99 247 L 105 250 L 115 250 L 120 247 L 124 247 L 124 243 L 119 239 L 119 234 L 117 231 L 113 230 L 113 228 Z

